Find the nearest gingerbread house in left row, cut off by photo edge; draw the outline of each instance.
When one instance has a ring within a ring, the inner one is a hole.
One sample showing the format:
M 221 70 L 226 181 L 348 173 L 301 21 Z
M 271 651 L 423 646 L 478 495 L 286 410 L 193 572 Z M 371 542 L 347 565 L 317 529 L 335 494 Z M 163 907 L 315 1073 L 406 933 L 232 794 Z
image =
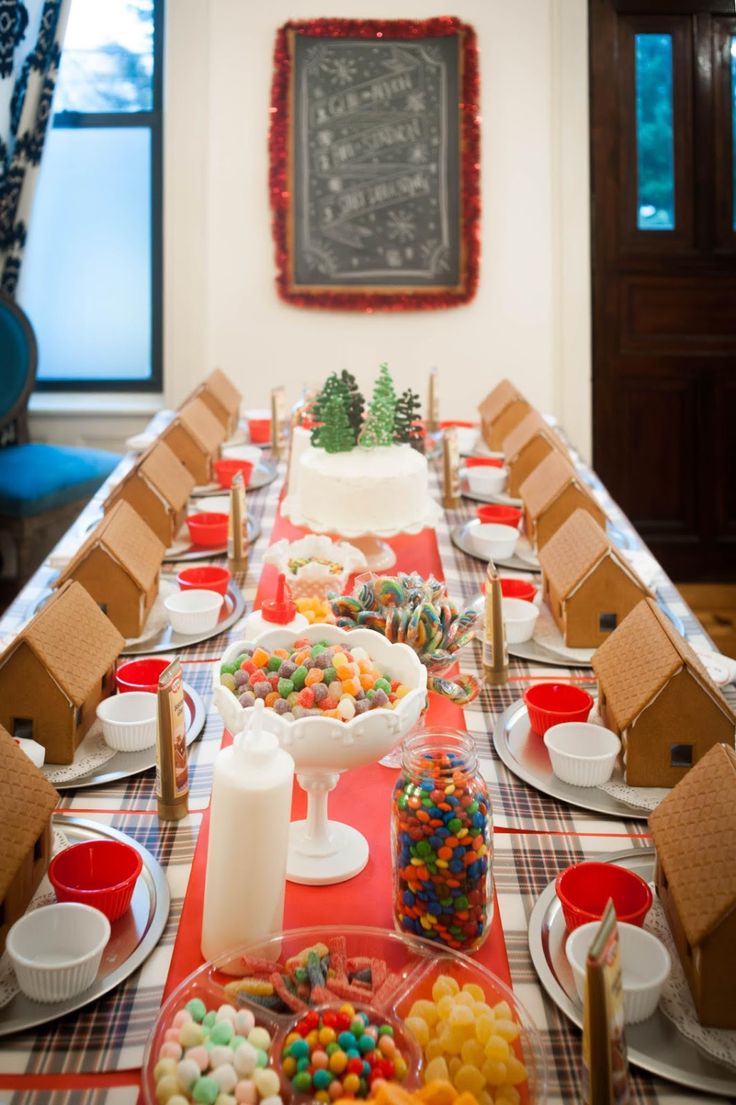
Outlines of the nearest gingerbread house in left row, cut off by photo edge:
M 29 906 L 51 859 L 59 794 L 0 725 L 0 955 L 8 929 Z

